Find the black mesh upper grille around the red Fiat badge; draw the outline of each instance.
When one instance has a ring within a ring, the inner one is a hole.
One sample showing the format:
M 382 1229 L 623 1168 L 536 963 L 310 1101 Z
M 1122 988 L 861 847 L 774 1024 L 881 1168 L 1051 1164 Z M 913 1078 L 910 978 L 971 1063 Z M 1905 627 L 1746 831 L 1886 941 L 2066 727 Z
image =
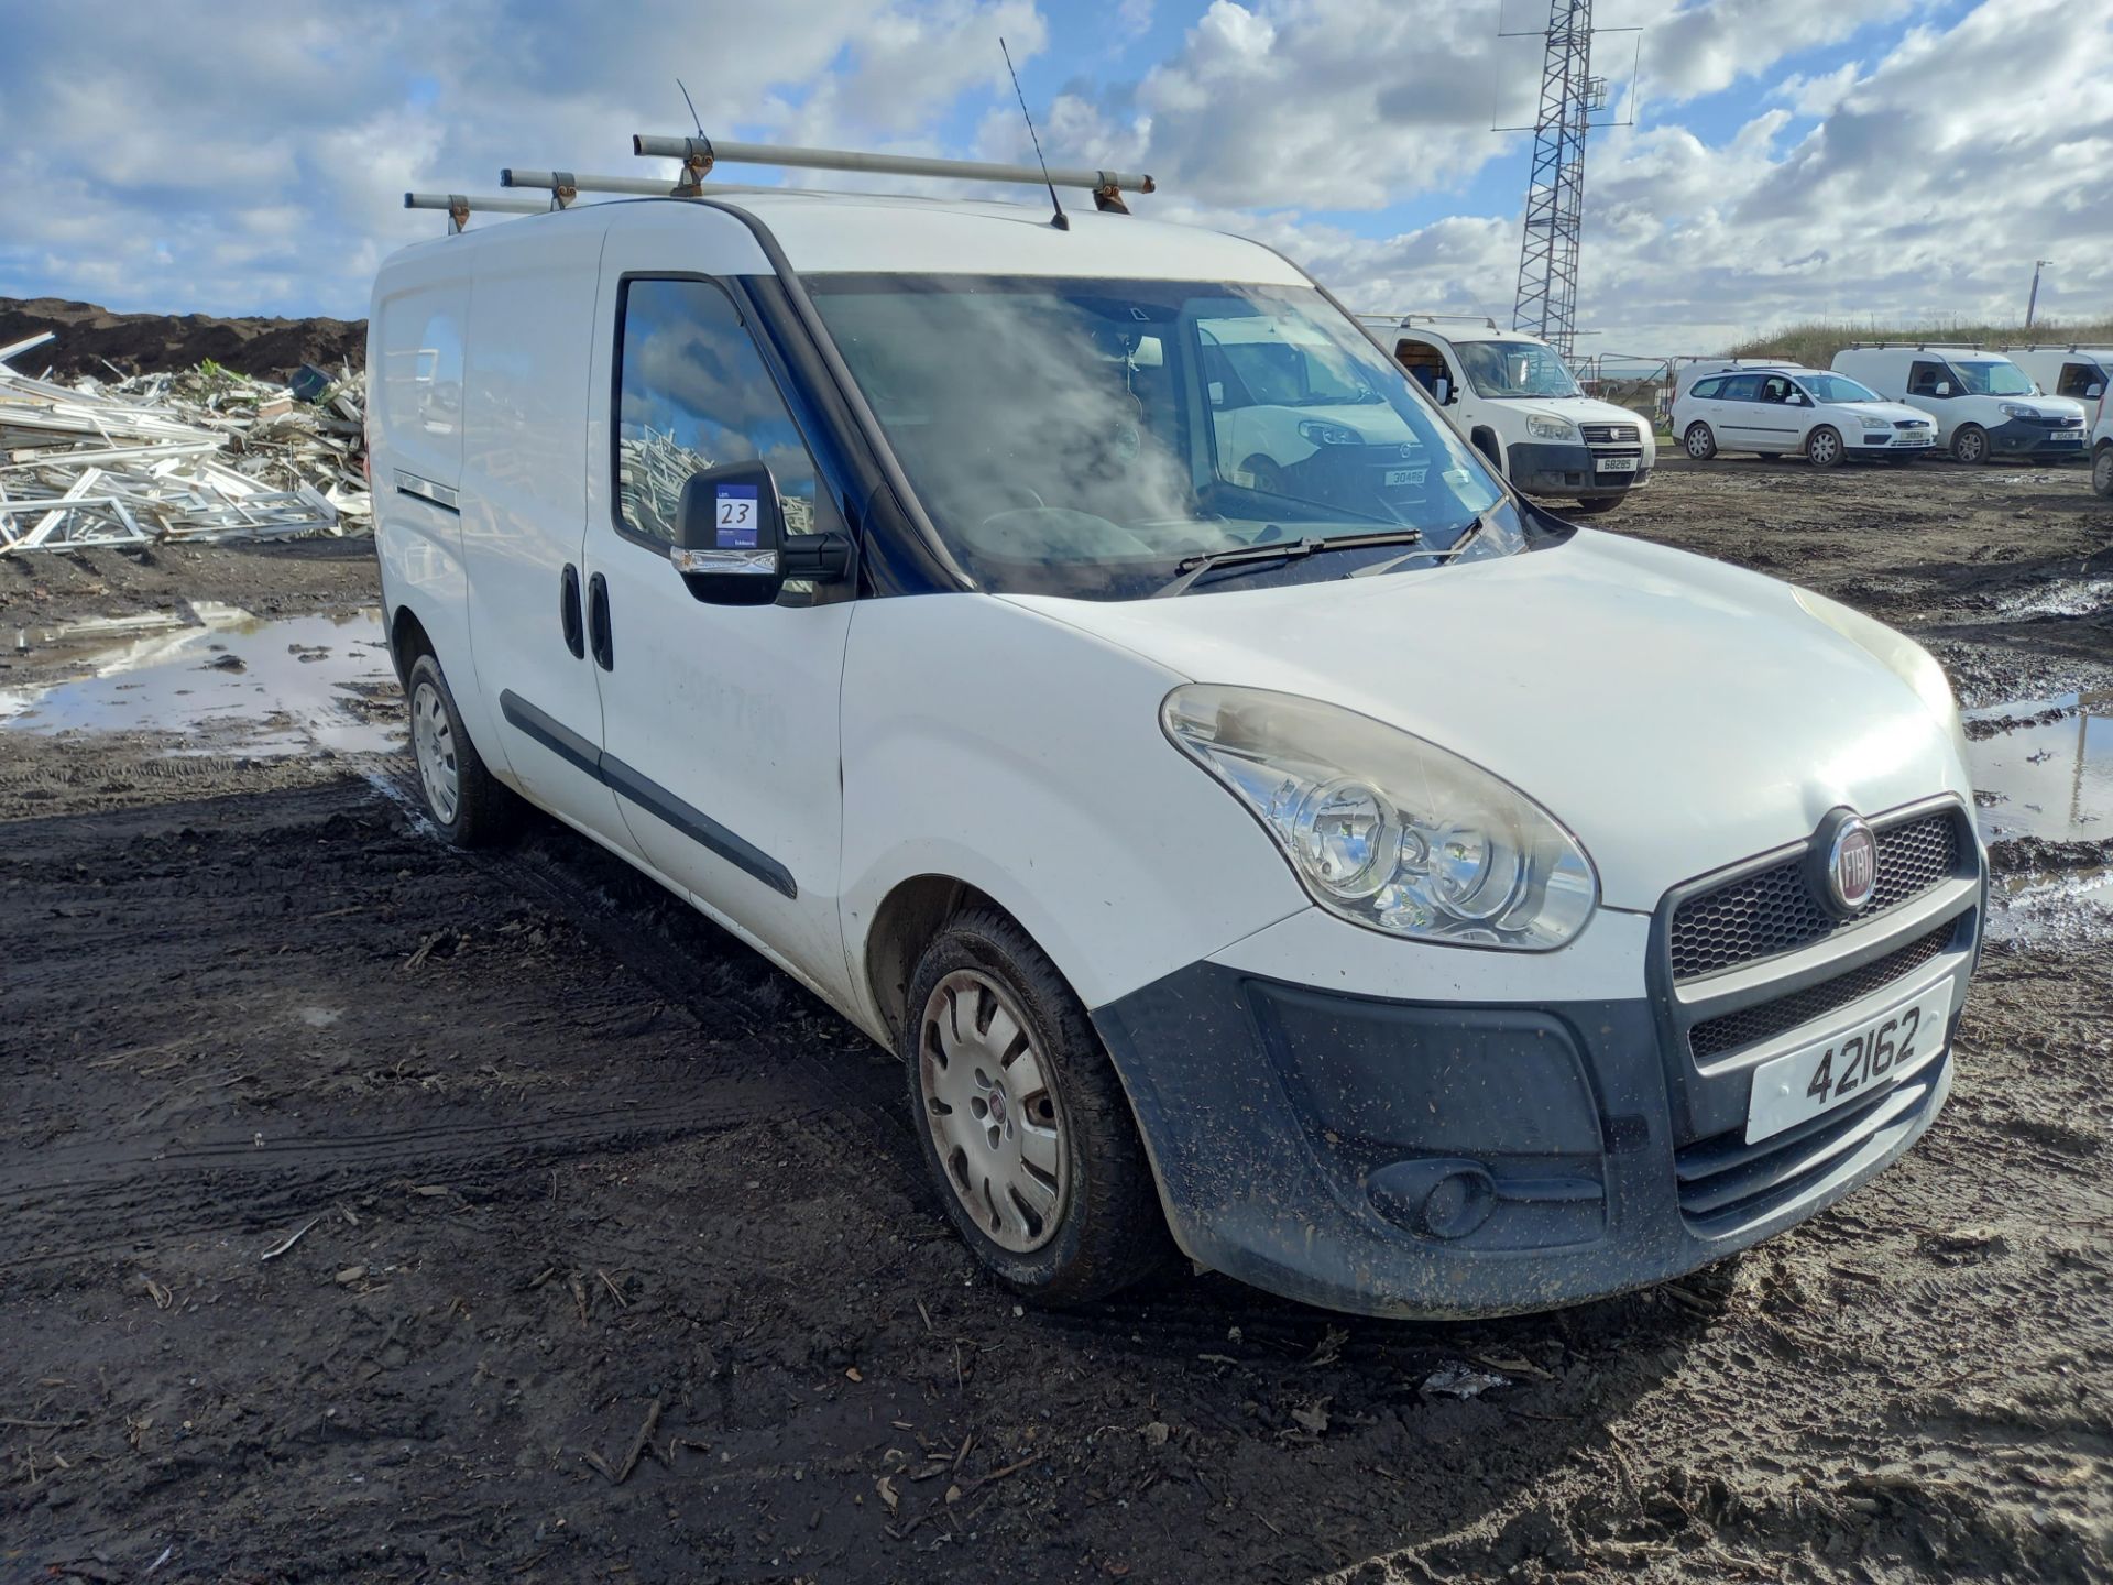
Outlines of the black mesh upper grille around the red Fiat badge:
M 1878 885 L 1855 921 L 1826 909 L 1805 877 L 1805 854 L 1682 900 L 1667 932 L 1673 978 L 1690 981 L 1811 947 L 1959 871 L 1959 816 L 1952 809 L 1914 816 L 1876 835 Z

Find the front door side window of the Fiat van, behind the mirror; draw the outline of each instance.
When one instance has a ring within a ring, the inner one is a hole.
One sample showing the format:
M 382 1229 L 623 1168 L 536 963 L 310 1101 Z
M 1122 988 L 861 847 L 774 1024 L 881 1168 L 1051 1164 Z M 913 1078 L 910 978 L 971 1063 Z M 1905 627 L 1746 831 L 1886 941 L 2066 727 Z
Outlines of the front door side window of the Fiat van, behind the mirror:
M 841 528 L 814 456 L 733 300 L 710 281 L 625 281 L 617 319 L 617 526 L 674 541 L 682 484 L 718 463 L 769 463 L 786 533 Z

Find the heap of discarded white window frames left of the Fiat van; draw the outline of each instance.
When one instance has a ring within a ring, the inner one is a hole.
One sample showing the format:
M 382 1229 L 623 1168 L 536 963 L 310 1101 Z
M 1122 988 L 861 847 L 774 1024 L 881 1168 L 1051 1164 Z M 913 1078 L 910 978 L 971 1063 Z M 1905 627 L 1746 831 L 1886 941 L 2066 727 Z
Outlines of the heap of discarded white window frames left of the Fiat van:
M 55 383 L 0 347 L 0 556 L 165 539 L 285 539 L 372 526 L 361 385 L 300 402 L 205 366 Z

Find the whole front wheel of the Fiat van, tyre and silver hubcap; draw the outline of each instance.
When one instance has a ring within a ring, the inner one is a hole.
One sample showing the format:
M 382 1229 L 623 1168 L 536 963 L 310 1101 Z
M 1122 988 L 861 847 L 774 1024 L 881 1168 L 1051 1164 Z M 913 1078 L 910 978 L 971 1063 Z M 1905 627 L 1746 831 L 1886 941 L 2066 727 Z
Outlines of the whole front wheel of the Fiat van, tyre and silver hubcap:
M 997 909 L 955 915 L 917 959 L 906 1008 L 919 1150 L 985 1268 L 1040 1304 L 1082 1304 L 1166 1264 L 1122 1080 L 1025 930 Z

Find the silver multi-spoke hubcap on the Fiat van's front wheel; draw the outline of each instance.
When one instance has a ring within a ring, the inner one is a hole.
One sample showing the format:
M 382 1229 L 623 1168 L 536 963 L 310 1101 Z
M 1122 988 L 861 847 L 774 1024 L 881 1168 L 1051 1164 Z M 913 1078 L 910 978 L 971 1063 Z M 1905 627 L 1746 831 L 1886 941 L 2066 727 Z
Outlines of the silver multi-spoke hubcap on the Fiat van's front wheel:
M 1018 1255 L 1054 1238 L 1071 1192 L 1056 1071 L 987 974 L 957 970 L 932 987 L 917 1093 L 947 1186 L 976 1226 Z

